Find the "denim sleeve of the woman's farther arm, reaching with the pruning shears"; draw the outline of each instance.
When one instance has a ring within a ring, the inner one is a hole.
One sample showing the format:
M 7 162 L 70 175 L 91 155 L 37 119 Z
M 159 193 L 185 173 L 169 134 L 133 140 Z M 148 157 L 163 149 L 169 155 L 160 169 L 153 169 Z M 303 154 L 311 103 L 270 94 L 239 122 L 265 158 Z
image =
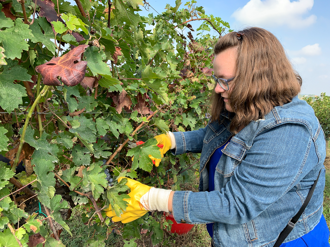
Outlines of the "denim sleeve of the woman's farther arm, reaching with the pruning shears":
M 176 148 L 172 149 L 171 152 L 174 155 L 189 152 L 202 152 L 206 128 L 207 127 L 186 132 L 172 132 L 175 136 Z

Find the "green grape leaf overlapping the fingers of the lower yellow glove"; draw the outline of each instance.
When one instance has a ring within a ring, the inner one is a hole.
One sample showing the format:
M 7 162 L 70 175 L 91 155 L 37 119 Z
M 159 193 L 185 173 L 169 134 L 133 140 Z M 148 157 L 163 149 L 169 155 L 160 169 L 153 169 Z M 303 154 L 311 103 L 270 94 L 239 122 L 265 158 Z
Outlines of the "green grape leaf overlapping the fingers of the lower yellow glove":
M 130 196 L 127 194 L 118 195 L 119 192 L 124 192 L 129 189 L 126 185 L 127 178 L 123 178 L 120 182 L 107 190 L 107 198 L 110 201 L 112 210 L 115 211 L 116 215 L 119 217 L 123 211 L 126 210 L 127 202 L 123 199 L 129 199 Z

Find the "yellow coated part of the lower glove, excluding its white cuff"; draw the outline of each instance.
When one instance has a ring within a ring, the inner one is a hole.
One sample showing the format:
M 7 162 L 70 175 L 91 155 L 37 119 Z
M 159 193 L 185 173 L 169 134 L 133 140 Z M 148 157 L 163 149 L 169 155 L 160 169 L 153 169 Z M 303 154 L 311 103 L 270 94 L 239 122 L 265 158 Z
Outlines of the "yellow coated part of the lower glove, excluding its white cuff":
M 118 182 L 120 182 L 120 180 L 123 178 L 124 177 L 118 178 Z M 137 218 L 140 218 L 141 216 L 145 215 L 145 213 L 150 211 L 144 208 L 144 206 L 140 203 L 140 199 L 153 187 L 142 184 L 131 178 L 127 178 L 127 180 L 128 181 L 126 185 L 131 189 L 131 192 L 128 195 L 131 198 L 123 199 L 128 203 L 126 207 L 126 211 L 123 214 L 121 214 L 120 217 L 117 217 L 115 211 L 111 209 L 111 206 L 108 209 L 106 209 L 107 216 L 112 217 L 112 220 L 114 222 L 121 221 L 121 223 L 128 223 L 133 220 L 136 220 Z

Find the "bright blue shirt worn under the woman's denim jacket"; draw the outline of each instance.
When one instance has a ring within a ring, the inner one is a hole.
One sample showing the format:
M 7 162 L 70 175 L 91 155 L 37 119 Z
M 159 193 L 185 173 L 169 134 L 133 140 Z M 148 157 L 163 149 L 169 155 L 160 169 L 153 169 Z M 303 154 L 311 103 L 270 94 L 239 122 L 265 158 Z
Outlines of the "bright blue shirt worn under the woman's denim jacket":
M 226 142 L 220 148 L 216 149 L 215 152 L 210 157 L 209 165 L 206 166 L 209 172 L 209 189 L 208 191 L 214 190 L 214 174 L 215 167 L 218 164 L 220 157 L 222 155 L 222 149 L 230 142 Z M 206 228 L 211 238 L 213 237 L 213 224 L 207 223 Z M 309 233 L 286 243 L 282 243 L 280 247 L 329 247 L 329 229 L 325 218 L 322 214 L 320 222 L 315 226 L 315 228 Z

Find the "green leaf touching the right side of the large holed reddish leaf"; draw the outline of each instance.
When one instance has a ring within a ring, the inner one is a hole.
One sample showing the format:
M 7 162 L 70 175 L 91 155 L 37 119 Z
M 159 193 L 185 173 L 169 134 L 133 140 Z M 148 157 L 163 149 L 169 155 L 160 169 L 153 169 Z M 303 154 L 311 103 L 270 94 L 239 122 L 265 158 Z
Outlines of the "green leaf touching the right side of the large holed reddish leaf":
M 109 66 L 103 62 L 99 48 L 90 46 L 84 54 L 86 56 L 87 66 L 94 76 L 97 76 L 97 74 L 111 75 Z

